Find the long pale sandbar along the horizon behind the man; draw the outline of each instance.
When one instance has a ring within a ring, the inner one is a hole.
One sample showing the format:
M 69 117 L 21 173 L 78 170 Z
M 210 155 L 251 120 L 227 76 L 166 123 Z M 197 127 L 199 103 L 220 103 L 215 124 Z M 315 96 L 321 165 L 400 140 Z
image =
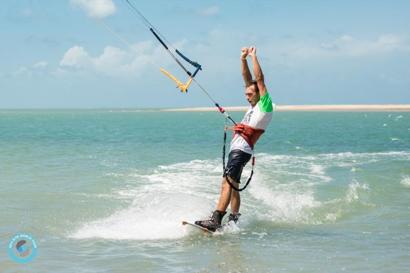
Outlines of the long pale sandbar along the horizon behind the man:
M 226 111 L 247 111 L 248 106 L 225 107 Z M 218 111 L 216 107 L 174 108 L 160 111 Z M 410 104 L 312 104 L 312 105 L 283 105 L 277 106 L 275 111 L 409 111 Z

